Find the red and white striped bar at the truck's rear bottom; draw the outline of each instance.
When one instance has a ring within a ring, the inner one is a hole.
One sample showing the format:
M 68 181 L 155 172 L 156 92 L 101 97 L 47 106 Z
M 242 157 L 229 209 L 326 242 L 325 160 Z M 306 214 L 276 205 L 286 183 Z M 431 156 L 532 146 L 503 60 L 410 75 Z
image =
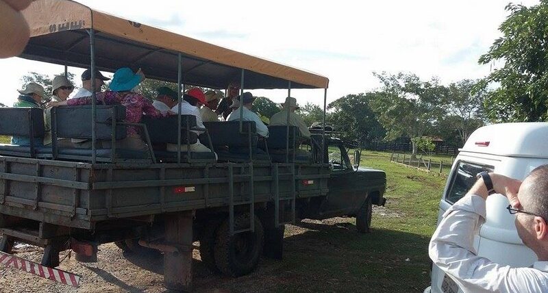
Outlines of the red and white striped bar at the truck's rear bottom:
M 65 272 L 64 270 L 58 270 L 56 268 L 48 268 L 47 266 L 36 264 L 36 262 L 31 262 L 27 259 L 22 259 L 21 257 L 16 257 L 1 251 L 0 264 L 3 264 L 4 266 L 12 266 L 19 270 L 30 272 L 33 275 L 50 279 L 52 281 L 57 281 L 65 285 L 70 285 L 75 288 L 78 288 L 80 283 L 79 275 L 71 274 L 70 272 Z

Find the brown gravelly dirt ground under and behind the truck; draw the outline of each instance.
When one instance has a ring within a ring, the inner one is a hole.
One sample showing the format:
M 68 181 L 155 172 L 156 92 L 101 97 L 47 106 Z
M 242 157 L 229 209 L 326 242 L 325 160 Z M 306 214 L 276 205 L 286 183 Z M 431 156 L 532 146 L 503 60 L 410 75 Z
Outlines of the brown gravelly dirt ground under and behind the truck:
M 305 220 L 305 224 L 350 226 L 349 218 L 332 218 L 329 220 Z M 302 250 L 301 241 L 292 237 L 310 231 L 306 225 L 286 225 L 284 254 L 292 250 Z M 354 226 L 351 225 L 353 229 Z M 199 243 L 195 242 L 195 246 Z M 308 249 L 314 245 L 306 243 Z M 319 244 L 322 245 L 322 244 Z M 18 245 L 15 255 L 35 262 L 40 262 L 43 249 L 34 246 Z M 200 261 L 197 249 L 193 252 L 193 276 L 196 292 L 269 292 L 277 291 L 277 285 L 291 283 L 287 274 L 287 266 L 283 261 L 261 259 L 258 269 L 251 275 L 240 278 L 214 275 Z M 65 258 L 66 257 L 66 258 Z M 81 275 L 79 288 L 71 288 L 54 281 L 42 279 L 15 268 L 0 267 L 0 292 L 168 292 L 163 284 L 163 257 L 158 255 L 132 255 L 123 253 L 113 243 L 99 246 L 99 262 L 82 264 L 75 260 L 74 255 L 64 252 L 60 255 L 60 269 Z M 306 264 L 303 264 L 306 266 Z

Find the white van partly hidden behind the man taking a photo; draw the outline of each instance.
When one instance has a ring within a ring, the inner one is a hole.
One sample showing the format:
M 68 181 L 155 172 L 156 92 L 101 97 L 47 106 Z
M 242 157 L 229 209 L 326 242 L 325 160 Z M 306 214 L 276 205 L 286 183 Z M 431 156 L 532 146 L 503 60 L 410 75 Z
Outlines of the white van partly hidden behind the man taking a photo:
M 474 131 L 456 157 L 440 201 L 438 223 L 443 213 L 458 201 L 483 170 L 523 180 L 537 166 L 548 164 L 548 123 L 503 123 Z M 536 255 L 521 242 L 508 213 L 506 196 L 488 197 L 485 224 L 475 238 L 477 254 L 499 264 L 527 267 Z M 512 253 L 509 253 L 512 251 Z M 432 283 L 426 292 L 462 292 L 458 285 L 432 266 Z

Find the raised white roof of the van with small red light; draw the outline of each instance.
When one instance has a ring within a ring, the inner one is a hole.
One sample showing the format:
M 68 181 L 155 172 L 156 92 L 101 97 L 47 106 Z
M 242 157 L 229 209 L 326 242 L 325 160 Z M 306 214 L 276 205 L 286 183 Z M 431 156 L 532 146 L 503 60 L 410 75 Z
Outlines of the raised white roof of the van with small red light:
M 508 157 L 548 157 L 548 123 L 501 123 L 480 127 L 460 151 Z

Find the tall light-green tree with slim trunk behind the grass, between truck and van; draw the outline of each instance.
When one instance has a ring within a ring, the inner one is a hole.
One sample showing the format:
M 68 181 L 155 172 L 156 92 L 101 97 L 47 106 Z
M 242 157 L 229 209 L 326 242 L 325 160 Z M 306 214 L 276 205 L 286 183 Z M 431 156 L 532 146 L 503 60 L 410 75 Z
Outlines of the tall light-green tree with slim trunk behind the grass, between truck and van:
M 443 101 L 448 90 L 437 78 L 421 81 L 414 74 L 373 73 L 383 84 L 371 100 L 379 123 L 386 129 L 386 140 L 408 136 L 412 142 L 412 155 L 417 146 L 413 138 L 423 136 L 444 114 Z

